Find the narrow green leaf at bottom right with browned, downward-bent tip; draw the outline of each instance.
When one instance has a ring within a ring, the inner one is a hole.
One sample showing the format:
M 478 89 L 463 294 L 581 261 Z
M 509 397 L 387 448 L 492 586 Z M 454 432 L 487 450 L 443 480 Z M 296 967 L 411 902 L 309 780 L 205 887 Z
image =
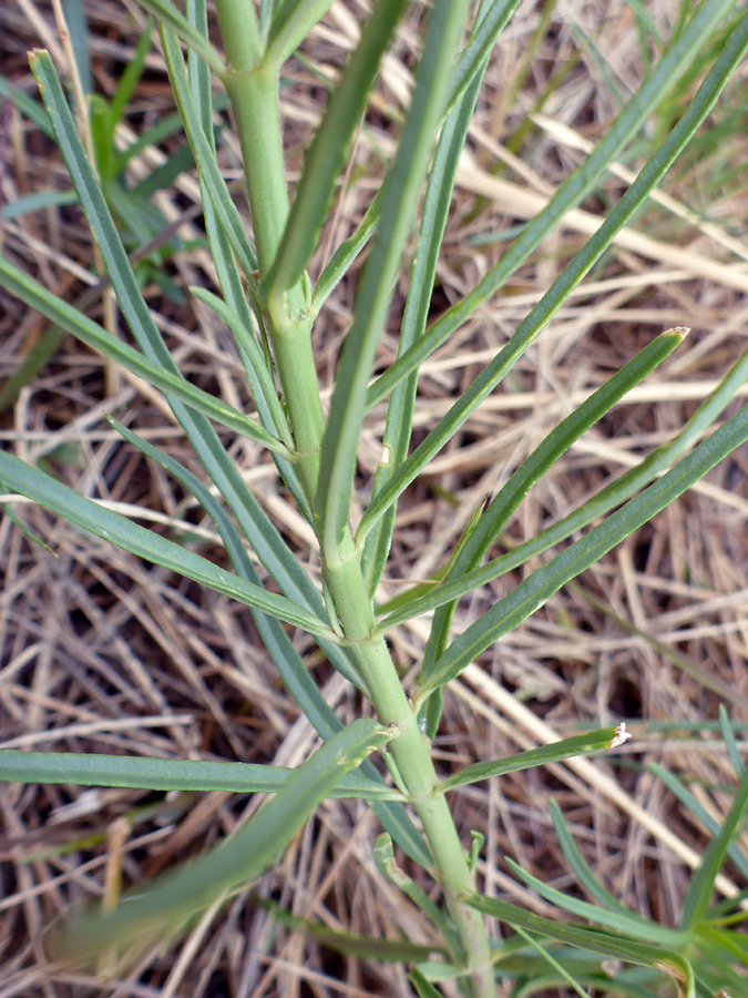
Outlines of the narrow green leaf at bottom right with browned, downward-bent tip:
M 485 915 L 492 915 L 508 925 L 518 926 L 549 939 L 555 939 L 557 943 L 565 943 L 570 946 L 576 946 L 580 949 L 624 960 L 625 963 L 654 967 L 677 982 L 683 998 L 696 998 L 694 971 L 690 963 L 675 950 L 648 946 L 646 943 L 601 933 L 586 926 L 563 925 L 562 923 L 551 921 L 549 918 L 532 915 L 530 912 L 525 912 L 524 908 L 499 898 L 474 894 L 468 897 L 467 902 Z

